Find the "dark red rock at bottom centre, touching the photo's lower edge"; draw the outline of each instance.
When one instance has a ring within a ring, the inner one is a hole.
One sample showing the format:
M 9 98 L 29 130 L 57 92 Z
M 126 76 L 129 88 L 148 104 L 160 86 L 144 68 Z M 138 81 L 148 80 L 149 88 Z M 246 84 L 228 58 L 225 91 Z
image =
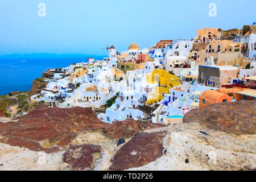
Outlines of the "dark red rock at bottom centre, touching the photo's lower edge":
M 124 144 L 111 160 L 110 170 L 141 167 L 163 155 L 163 132 L 140 133 Z

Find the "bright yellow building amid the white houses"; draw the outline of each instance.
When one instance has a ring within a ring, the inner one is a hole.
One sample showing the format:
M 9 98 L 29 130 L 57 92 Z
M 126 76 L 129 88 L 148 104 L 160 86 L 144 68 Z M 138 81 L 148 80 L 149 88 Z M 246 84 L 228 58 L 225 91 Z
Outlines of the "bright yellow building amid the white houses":
M 147 74 L 147 82 L 158 84 L 155 93 L 145 104 L 154 105 L 163 99 L 163 94 L 168 94 L 170 88 L 180 85 L 179 78 L 171 75 L 164 69 L 155 69 L 152 73 Z

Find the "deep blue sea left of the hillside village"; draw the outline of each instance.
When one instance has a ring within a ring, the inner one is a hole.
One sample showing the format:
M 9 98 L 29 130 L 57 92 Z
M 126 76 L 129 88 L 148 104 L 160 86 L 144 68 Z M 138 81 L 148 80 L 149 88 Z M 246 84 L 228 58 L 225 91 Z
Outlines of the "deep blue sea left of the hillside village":
M 30 90 L 32 81 L 47 69 L 64 68 L 73 63 L 86 62 L 88 57 L 103 60 L 95 55 L 7 55 L 0 56 L 0 95 L 13 91 Z

